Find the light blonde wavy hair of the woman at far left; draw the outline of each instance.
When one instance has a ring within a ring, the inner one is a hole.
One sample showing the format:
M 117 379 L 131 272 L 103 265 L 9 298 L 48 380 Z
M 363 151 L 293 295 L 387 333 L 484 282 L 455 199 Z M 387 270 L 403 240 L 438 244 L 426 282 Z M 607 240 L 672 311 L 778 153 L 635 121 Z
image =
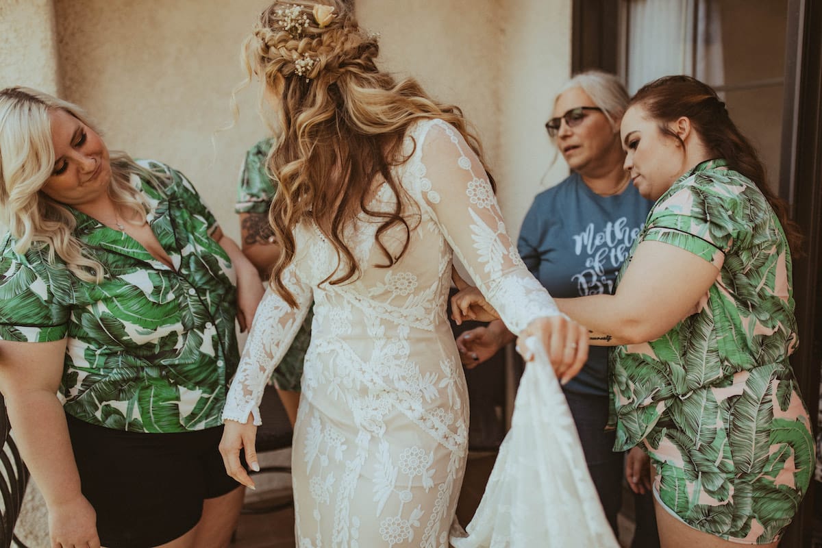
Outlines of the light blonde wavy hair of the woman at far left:
M 74 237 L 72 211 L 40 191 L 54 169 L 49 113 L 55 110 L 71 114 L 99 133 L 76 104 L 20 86 L 0 90 L 0 223 L 14 238 L 17 253 L 45 246 L 48 260 L 53 261 L 57 254 L 77 278 L 99 283 L 104 266 Z M 109 196 L 123 210 L 145 216 L 149 206 L 129 179 L 132 173 L 159 176 L 141 168 L 125 153 L 111 151 L 109 157 Z

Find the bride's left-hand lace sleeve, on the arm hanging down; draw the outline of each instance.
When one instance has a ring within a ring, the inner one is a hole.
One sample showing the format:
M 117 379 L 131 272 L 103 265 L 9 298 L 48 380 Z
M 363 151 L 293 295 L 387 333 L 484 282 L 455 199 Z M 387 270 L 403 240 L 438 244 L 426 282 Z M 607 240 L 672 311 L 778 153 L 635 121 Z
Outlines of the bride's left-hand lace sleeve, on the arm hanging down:
M 260 426 L 260 401 L 271 371 L 288 351 L 294 336 L 308 313 L 312 289 L 300 281 L 297 258 L 283 272 L 283 281 L 297 299 L 291 308 L 279 294 L 268 288 L 257 307 L 242 358 L 226 397 L 223 421 L 245 422 L 251 413 Z

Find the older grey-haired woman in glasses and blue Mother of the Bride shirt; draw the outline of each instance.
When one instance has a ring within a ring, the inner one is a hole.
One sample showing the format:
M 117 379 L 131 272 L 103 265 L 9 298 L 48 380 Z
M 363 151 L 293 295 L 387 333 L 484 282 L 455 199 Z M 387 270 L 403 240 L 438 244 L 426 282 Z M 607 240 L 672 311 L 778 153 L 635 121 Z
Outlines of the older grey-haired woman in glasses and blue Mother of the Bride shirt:
M 617 271 L 650 209 L 651 202 L 629 184 L 622 168 L 625 153 L 619 130 L 627 103 L 628 94 L 616 76 L 583 72 L 562 87 L 554 102 L 554 117 L 545 124 L 571 174 L 533 200 L 518 246 L 525 264 L 555 297 L 611 293 Z M 463 363 L 473 367 L 513 339 L 496 320 L 460 335 L 457 346 Z M 612 450 L 614 435 L 604 431 L 607 352 L 607 348 L 592 347 L 584 368 L 564 390 L 589 472 L 616 532 L 623 454 Z M 637 476 L 628 474 L 629 478 Z M 633 487 L 644 494 L 644 486 Z M 657 542 L 653 507 L 648 503 L 637 506 L 646 510 L 637 512 L 640 527 L 634 546 Z M 646 530 L 648 541 L 642 540 Z

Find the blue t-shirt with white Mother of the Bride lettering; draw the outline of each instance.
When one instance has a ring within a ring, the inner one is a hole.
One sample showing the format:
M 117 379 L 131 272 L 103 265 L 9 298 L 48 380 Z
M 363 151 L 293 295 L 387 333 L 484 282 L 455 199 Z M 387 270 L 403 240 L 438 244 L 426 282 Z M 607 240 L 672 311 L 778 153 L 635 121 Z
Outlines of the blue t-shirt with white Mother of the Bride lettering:
M 520 255 L 552 297 L 612 293 L 651 205 L 632 184 L 621 194 L 599 196 L 572 173 L 533 199 L 520 230 Z M 606 396 L 607 366 L 608 348 L 591 347 L 566 390 Z

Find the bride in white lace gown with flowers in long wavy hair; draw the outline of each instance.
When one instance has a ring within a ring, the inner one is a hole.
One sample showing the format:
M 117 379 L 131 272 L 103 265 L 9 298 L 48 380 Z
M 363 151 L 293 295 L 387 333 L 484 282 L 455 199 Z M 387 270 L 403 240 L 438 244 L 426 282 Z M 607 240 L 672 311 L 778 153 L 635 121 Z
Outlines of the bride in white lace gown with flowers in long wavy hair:
M 314 303 L 293 442 L 299 546 L 448 546 L 468 397 L 446 318 L 452 257 L 557 375 L 587 357 L 506 233 L 458 108 L 376 67 L 344 2 L 275 2 L 247 39 L 281 131 L 269 157 L 282 246 L 224 410 L 229 473 L 256 467 L 257 406 Z

